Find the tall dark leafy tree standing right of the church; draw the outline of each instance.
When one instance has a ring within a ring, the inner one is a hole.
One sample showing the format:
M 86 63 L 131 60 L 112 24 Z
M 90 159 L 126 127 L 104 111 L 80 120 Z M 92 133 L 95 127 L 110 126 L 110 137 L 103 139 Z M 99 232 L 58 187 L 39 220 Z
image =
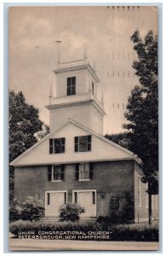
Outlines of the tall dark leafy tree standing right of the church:
M 125 113 L 129 124 L 123 125 L 131 134 L 131 150 L 141 160 L 142 182 L 148 183 L 149 223 L 152 219 L 152 195 L 158 193 L 158 86 L 157 36 L 152 31 L 142 40 L 138 31 L 131 37 L 138 60 L 133 67 L 140 85 L 129 96 Z

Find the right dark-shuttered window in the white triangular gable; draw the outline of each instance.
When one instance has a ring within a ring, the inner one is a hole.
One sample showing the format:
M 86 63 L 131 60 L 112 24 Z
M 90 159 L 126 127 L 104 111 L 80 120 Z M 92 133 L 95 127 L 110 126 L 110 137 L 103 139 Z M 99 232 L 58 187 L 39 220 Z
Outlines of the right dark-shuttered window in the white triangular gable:
M 91 135 L 75 137 L 75 152 L 91 151 Z

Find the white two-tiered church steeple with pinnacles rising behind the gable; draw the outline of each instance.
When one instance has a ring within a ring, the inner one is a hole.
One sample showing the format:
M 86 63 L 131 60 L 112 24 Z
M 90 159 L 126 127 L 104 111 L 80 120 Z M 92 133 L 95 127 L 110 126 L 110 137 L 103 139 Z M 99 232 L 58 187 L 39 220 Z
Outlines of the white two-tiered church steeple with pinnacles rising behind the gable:
M 56 97 L 51 92 L 46 106 L 50 111 L 50 131 L 71 118 L 102 134 L 105 112 L 98 91 L 100 80 L 87 60 L 86 49 L 82 60 L 58 64 L 54 70 Z

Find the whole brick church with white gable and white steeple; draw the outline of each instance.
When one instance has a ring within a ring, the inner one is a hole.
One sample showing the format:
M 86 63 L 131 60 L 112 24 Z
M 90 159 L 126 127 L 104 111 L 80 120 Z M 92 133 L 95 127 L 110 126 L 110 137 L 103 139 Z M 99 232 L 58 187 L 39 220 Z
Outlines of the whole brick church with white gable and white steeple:
M 86 55 L 58 62 L 56 96 L 50 91 L 50 132 L 13 160 L 14 197 L 37 196 L 44 218 L 58 218 L 61 205 L 79 204 L 83 219 L 148 219 L 146 184 L 140 160 L 103 136 L 104 102 L 100 79 Z M 158 217 L 157 196 L 152 216 Z

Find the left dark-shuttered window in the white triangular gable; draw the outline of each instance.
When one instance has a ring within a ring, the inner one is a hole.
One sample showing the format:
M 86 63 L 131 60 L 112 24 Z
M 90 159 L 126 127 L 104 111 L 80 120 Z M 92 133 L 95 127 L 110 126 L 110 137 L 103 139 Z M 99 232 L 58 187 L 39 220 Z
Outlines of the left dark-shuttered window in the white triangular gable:
M 65 153 L 65 143 L 65 137 L 49 139 L 49 154 Z

